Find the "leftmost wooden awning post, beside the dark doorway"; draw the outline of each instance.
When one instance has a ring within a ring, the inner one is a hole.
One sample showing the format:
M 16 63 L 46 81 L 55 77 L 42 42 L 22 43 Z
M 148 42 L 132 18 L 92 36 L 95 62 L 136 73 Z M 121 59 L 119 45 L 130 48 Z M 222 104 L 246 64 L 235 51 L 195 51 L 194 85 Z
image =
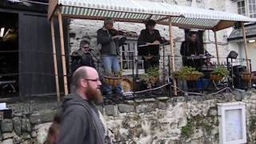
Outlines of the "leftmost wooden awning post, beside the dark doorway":
M 58 85 L 58 66 L 57 66 L 57 58 L 56 58 L 56 43 L 55 43 L 55 34 L 54 34 L 54 18 L 50 19 L 50 30 L 51 30 L 51 38 L 52 38 L 53 54 L 54 54 L 54 75 L 55 75 L 56 93 L 57 93 L 58 102 L 60 102 L 59 85 Z

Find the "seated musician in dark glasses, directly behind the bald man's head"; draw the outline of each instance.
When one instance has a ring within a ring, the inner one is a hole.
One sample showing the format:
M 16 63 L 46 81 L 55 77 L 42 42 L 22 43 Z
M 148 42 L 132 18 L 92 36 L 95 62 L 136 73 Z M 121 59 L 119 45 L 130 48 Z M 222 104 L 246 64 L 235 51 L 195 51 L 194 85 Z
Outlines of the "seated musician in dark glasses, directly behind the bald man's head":
M 90 53 L 90 42 L 82 40 L 79 50 L 71 54 L 71 71 L 72 73 L 80 66 L 91 66 L 95 68 L 93 54 Z

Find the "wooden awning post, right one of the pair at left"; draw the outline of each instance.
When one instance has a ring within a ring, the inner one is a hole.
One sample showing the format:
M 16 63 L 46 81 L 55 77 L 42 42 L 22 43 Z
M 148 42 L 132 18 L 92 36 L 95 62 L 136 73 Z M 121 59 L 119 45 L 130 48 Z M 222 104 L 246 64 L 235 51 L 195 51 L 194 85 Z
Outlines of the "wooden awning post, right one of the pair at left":
M 63 71 L 63 79 L 64 79 L 64 94 L 68 94 L 67 89 L 67 78 L 66 78 L 66 54 L 64 48 L 64 34 L 63 34 L 63 23 L 62 23 L 62 14 L 58 13 L 58 25 L 59 25 L 59 34 L 61 39 L 61 50 L 62 50 L 62 71 Z

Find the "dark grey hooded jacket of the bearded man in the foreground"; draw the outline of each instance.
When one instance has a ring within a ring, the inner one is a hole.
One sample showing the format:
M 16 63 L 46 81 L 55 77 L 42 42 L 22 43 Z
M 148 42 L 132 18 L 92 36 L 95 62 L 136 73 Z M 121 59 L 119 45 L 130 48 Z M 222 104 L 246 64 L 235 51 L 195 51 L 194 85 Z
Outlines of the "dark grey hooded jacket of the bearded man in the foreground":
M 58 144 L 84 144 L 105 142 L 105 130 L 98 110 L 78 94 L 65 98 Z

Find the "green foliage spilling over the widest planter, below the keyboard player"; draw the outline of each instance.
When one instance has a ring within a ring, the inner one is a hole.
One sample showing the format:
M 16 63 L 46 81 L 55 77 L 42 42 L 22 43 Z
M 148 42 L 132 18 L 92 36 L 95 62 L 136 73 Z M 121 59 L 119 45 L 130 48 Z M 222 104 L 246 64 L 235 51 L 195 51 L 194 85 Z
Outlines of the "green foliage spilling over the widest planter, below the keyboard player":
M 181 70 L 174 71 L 174 77 L 181 80 L 184 80 L 186 79 L 186 77 L 191 75 L 197 75 L 199 78 L 204 76 L 204 74 L 196 70 L 194 67 L 190 66 L 184 66 Z

